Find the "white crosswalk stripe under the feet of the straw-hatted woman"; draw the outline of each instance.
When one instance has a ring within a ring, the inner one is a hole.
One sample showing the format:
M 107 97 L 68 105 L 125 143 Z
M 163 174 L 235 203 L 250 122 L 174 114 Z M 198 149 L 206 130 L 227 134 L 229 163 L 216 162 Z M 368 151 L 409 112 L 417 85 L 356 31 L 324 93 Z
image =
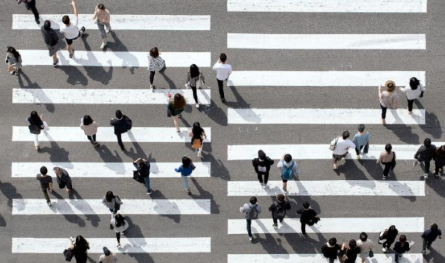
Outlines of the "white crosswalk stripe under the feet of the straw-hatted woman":
M 229 124 L 380 124 L 381 109 L 371 108 L 228 108 Z M 425 124 L 425 110 L 389 109 L 387 124 Z

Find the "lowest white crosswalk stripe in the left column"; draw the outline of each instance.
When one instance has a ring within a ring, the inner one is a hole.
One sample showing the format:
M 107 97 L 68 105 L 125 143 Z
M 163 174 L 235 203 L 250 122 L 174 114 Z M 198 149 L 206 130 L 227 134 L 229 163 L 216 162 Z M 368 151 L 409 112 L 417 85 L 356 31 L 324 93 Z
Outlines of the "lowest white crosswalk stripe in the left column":
M 122 248 L 116 248 L 115 238 L 90 238 L 89 253 L 103 253 L 107 247 L 112 253 L 210 253 L 210 237 L 152 237 L 121 238 Z M 13 237 L 12 253 L 61 254 L 69 247 L 68 238 Z

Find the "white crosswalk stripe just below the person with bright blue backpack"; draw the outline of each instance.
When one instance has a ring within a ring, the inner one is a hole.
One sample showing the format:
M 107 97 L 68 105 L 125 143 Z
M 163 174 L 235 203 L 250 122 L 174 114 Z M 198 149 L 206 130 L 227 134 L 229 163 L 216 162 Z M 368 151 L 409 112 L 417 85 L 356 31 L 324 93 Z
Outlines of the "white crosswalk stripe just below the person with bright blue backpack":
M 281 187 L 281 181 L 268 181 L 265 189 L 257 182 L 228 181 L 227 196 L 276 196 L 284 194 Z M 287 191 L 287 196 L 425 196 L 425 181 L 289 180 Z

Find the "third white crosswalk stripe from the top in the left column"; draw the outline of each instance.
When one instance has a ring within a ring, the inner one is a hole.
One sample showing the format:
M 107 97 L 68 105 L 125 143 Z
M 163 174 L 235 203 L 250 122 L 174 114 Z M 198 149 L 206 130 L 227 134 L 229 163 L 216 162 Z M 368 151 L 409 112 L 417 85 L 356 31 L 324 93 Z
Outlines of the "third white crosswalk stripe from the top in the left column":
M 168 94 L 192 102 L 192 90 L 145 89 L 12 89 L 15 104 L 168 104 Z M 197 90 L 198 102 L 210 104 L 210 89 Z

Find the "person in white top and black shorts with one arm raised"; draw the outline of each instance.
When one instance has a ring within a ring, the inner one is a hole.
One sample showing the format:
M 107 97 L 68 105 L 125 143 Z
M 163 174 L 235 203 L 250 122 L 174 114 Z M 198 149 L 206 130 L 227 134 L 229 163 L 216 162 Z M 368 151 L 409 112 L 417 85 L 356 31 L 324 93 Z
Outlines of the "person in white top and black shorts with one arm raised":
M 85 27 L 82 27 L 80 30 L 77 27 L 79 23 L 79 14 L 77 12 L 77 4 L 74 0 L 71 0 L 71 6 L 73 6 L 74 19 L 71 21 L 68 15 L 64 15 L 62 17 L 63 25 L 60 26 L 60 33 L 65 36 L 67 44 L 66 50 L 70 54 L 70 58 L 73 58 L 74 49 L 71 48 L 71 45 L 73 45 L 73 40 L 84 36 Z

